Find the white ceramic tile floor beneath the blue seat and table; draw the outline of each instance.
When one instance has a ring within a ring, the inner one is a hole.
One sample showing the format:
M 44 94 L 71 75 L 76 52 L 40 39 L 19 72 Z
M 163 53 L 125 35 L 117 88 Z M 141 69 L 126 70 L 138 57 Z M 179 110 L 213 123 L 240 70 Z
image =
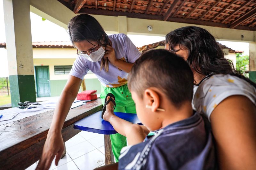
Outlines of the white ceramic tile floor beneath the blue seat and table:
M 104 135 L 81 131 L 66 142 L 66 156 L 50 170 L 92 170 L 105 165 Z M 38 161 L 26 170 L 35 170 Z

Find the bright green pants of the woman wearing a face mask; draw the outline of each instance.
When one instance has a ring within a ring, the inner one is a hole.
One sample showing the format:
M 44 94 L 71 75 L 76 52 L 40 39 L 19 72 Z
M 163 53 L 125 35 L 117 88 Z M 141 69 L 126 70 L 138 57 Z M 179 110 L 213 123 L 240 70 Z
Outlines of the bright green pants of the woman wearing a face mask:
M 116 108 L 115 112 L 124 112 L 124 113 L 135 113 L 135 103 L 132 100 L 131 92 L 129 91 L 127 84 L 122 85 L 120 87 L 104 87 L 101 85 L 101 93 L 100 93 L 100 99 L 102 101 L 102 104 L 105 103 L 105 97 L 108 93 L 114 94 L 116 98 Z M 110 135 L 110 140 L 112 144 L 112 152 L 115 156 L 116 162 L 118 162 L 118 157 L 120 155 L 120 151 L 124 146 L 127 146 L 126 144 L 126 137 L 123 135 L 120 135 L 119 133 Z

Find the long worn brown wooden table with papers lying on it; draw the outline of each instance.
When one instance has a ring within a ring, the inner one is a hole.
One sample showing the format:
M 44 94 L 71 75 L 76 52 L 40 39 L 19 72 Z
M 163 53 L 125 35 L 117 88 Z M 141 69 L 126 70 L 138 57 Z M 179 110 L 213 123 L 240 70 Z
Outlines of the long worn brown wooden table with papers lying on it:
M 73 108 L 62 128 L 64 142 L 80 132 L 73 124 L 102 109 L 100 99 Z M 53 110 L 0 126 L 0 169 L 26 169 L 39 160 Z

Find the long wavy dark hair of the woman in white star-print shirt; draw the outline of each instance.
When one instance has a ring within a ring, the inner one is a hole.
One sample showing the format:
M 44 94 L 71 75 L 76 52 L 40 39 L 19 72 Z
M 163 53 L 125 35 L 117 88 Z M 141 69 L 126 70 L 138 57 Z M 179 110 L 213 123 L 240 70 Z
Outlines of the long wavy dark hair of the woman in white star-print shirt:
M 207 30 L 197 26 L 185 26 L 171 31 L 165 36 L 165 43 L 169 50 L 177 52 L 174 47 L 188 50 L 187 63 L 196 72 L 210 77 L 214 74 L 230 74 L 242 78 L 256 87 L 248 78 L 245 78 L 234 68 L 230 60 L 225 59 L 224 52 L 215 38 Z

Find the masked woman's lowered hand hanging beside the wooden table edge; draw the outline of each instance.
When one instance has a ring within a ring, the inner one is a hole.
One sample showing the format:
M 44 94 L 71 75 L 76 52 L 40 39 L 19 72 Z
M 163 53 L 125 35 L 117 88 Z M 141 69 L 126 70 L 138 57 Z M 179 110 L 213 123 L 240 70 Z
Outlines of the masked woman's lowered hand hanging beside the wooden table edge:
M 63 151 L 64 143 L 61 132 L 56 133 L 54 131 L 50 132 L 49 130 L 46 141 L 44 143 L 43 153 L 36 167 L 36 170 L 48 170 L 55 156 L 55 165 L 57 166 Z

